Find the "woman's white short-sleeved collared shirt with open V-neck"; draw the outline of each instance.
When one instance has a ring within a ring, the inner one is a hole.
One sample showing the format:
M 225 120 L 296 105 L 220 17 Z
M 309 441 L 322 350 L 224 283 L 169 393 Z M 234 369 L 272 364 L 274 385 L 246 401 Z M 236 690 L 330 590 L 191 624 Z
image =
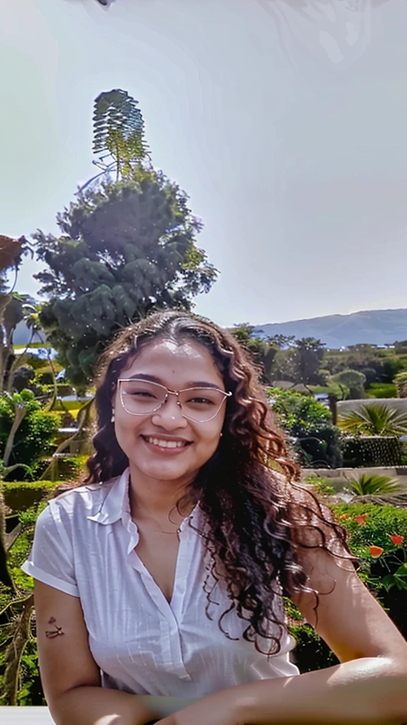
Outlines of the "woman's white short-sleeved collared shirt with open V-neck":
M 22 564 L 34 579 L 80 597 L 89 647 L 103 687 L 138 695 L 204 697 L 236 684 L 299 674 L 290 661 L 295 640 L 283 628 L 281 650 L 267 656 L 242 638 L 248 626 L 230 606 L 221 584 L 206 616 L 206 554 L 198 506 L 182 521 L 172 601 L 135 551 L 138 529 L 130 515 L 129 469 L 104 484 L 60 494 L 38 516 L 30 557 Z M 211 589 L 211 586 L 209 587 Z M 277 605 L 284 618 L 283 600 Z M 286 620 L 285 620 L 286 621 Z M 280 630 L 276 629 L 276 636 Z M 270 640 L 259 639 L 261 650 Z

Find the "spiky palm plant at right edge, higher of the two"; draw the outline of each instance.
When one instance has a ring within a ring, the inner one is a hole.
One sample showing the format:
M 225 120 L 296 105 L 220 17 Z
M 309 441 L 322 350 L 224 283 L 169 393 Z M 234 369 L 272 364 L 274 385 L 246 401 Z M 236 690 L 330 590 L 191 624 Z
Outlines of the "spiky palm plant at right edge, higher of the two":
M 407 433 L 407 413 L 388 405 L 361 405 L 342 415 L 337 426 L 353 436 L 402 436 Z

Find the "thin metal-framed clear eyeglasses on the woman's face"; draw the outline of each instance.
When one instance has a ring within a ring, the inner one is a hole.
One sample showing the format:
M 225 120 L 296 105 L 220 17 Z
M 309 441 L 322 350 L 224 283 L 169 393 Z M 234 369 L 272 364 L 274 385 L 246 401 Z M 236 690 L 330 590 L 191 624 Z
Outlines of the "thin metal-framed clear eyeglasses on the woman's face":
M 184 418 L 195 423 L 208 423 L 219 413 L 222 404 L 232 393 L 217 388 L 185 388 L 169 390 L 159 383 L 137 378 L 119 378 L 122 406 L 130 415 L 149 415 L 159 410 L 169 395 L 177 396 L 177 405 Z

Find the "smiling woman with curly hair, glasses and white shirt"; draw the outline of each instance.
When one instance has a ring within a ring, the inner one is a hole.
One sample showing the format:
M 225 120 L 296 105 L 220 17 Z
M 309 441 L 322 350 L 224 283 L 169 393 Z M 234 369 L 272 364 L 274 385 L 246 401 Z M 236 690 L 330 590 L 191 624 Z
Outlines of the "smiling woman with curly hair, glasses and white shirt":
M 88 485 L 49 502 L 22 567 L 56 724 L 407 720 L 407 644 L 235 339 L 156 313 L 102 370 Z M 339 665 L 299 674 L 283 595 Z

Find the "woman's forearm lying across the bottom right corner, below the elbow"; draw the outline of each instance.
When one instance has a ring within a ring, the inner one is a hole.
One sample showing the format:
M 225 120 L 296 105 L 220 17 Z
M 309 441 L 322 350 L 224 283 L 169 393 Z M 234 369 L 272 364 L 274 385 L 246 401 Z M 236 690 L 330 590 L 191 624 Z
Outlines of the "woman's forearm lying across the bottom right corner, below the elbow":
M 402 725 L 407 668 L 362 658 L 204 697 L 159 725 Z

